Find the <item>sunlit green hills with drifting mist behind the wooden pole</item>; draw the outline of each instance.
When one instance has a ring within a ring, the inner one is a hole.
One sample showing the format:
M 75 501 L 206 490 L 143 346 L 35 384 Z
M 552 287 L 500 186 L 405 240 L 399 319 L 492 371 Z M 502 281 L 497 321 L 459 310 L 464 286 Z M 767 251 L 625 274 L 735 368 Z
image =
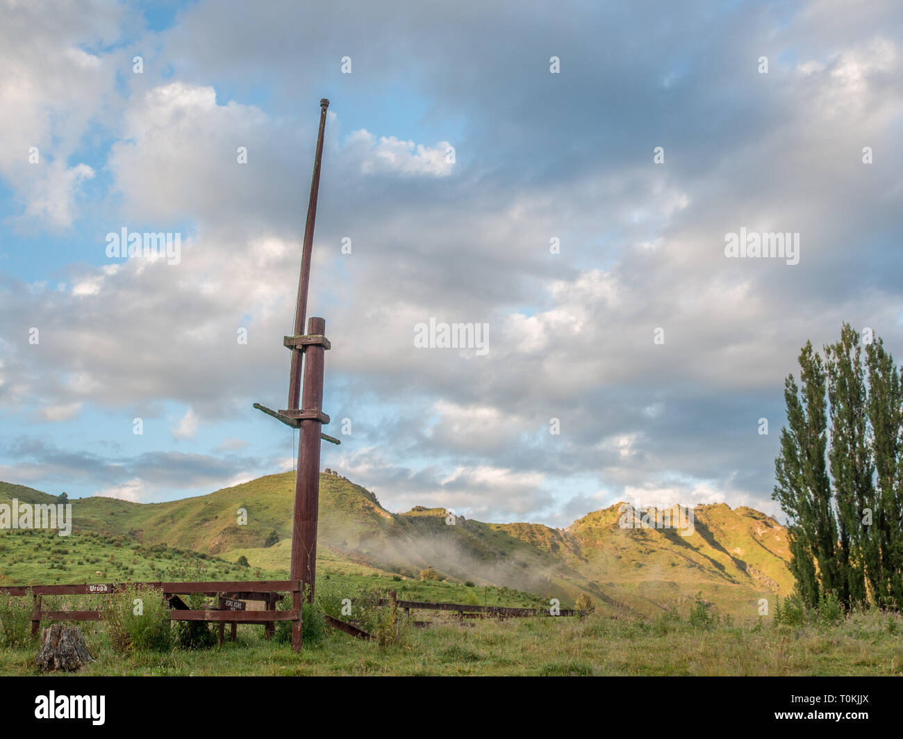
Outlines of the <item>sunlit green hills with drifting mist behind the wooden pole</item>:
M 786 595 L 793 586 L 786 530 L 749 508 L 699 506 L 694 533 L 684 537 L 675 529 L 622 529 L 619 505 L 594 511 L 567 529 L 551 529 L 462 517 L 450 525 L 442 509 L 391 513 L 373 493 L 334 474 L 321 474 L 320 495 L 318 574 L 376 577 L 401 583 L 399 592 L 414 587 L 429 567 L 440 582 L 417 587 L 439 588 L 436 593 L 446 593 L 447 600 L 470 583 L 521 592 L 522 600 L 535 594 L 573 603 L 586 592 L 603 610 L 661 613 L 684 609 L 702 594 L 723 612 L 752 616 L 759 598 Z M 284 472 L 165 503 L 71 500 L 71 537 L 3 532 L 0 582 L 84 582 L 97 579 L 97 572 L 150 579 L 173 563 L 203 568 L 205 579 L 284 577 L 293 496 L 294 473 Z M 0 503 L 12 498 L 55 500 L 0 482 Z M 29 548 L 37 542 L 49 547 L 51 559 L 41 556 L 43 549 Z M 117 557 L 123 547 L 127 563 Z M 242 556 L 250 567 L 235 564 Z

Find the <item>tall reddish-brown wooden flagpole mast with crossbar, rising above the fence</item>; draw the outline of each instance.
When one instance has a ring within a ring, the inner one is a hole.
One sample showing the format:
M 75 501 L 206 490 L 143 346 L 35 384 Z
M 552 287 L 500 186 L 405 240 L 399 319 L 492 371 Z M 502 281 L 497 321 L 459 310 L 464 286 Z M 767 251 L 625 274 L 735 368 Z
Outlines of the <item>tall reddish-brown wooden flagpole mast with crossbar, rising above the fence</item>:
M 300 428 L 298 439 L 298 468 L 294 487 L 294 515 L 292 528 L 292 580 L 301 582 L 301 590 L 293 593 L 292 607 L 301 610 L 303 593 L 312 603 L 317 575 L 317 516 L 320 508 L 320 440 L 332 444 L 339 440 L 321 433 L 322 424 L 330 422 L 323 413 L 323 352 L 330 349 L 326 338 L 326 322 L 311 318 L 304 331 L 307 317 L 307 293 L 311 280 L 313 251 L 313 226 L 317 218 L 317 196 L 320 190 L 320 164 L 323 154 L 323 131 L 326 126 L 326 109 L 330 101 L 320 101 L 320 131 L 313 158 L 311 199 L 307 206 L 307 223 L 304 227 L 304 243 L 301 257 L 301 276 L 298 280 L 298 299 L 294 311 L 294 333 L 284 337 L 283 343 L 292 351 L 292 367 L 289 370 L 288 407 L 275 411 L 255 403 L 254 407 L 274 416 L 286 426 Z M 302 389 L 303 359 L 303 389 Z M 301 403 L 299 404 L 299 398 Z M 292 649 L 301 649 L 302 622 L 292 622 Z

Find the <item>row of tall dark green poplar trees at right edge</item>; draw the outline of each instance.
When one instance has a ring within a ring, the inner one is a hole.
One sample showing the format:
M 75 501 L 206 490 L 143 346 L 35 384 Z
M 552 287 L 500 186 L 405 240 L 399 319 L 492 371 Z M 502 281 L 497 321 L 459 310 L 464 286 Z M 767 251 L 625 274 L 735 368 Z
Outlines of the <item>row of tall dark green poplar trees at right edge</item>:
M 880 338 L 844 323 L 824 357 L 806 341 L 785 381 L 772 498 L 789 518 L 805 603 L 903 607 L 903 388 Z

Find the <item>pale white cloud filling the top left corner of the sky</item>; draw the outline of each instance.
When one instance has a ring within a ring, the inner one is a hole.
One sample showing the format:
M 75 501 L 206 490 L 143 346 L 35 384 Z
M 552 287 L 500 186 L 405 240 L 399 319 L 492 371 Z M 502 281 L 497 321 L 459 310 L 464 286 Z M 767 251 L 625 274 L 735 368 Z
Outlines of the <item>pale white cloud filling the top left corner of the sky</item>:
M 116 69 L 84 47 L 115 39 L 127 12 L 88 5 L 6 3 L 0 9 L 0 176 L 21 211 L 17 229 L 69 227 L 92 167 L 70 162 L 98 113 Z

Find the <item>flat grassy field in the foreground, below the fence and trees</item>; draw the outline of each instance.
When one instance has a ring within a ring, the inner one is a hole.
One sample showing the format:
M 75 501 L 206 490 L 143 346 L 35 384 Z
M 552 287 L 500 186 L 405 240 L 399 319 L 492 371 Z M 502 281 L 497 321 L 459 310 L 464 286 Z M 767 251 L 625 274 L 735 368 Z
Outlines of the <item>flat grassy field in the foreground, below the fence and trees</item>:
M 881 613 L 798 627 L 674 615 L 438 622 L 384 647 L 329 632 L 299 654 L 239 626 L 221 647 L 125 658 L 98 623 L 83 626 L 97 659 L 84 675 L 903 675 L 903 621 Z M 0 673 L 37 674 L 34 655 L 33 645 L 0 651 Z

